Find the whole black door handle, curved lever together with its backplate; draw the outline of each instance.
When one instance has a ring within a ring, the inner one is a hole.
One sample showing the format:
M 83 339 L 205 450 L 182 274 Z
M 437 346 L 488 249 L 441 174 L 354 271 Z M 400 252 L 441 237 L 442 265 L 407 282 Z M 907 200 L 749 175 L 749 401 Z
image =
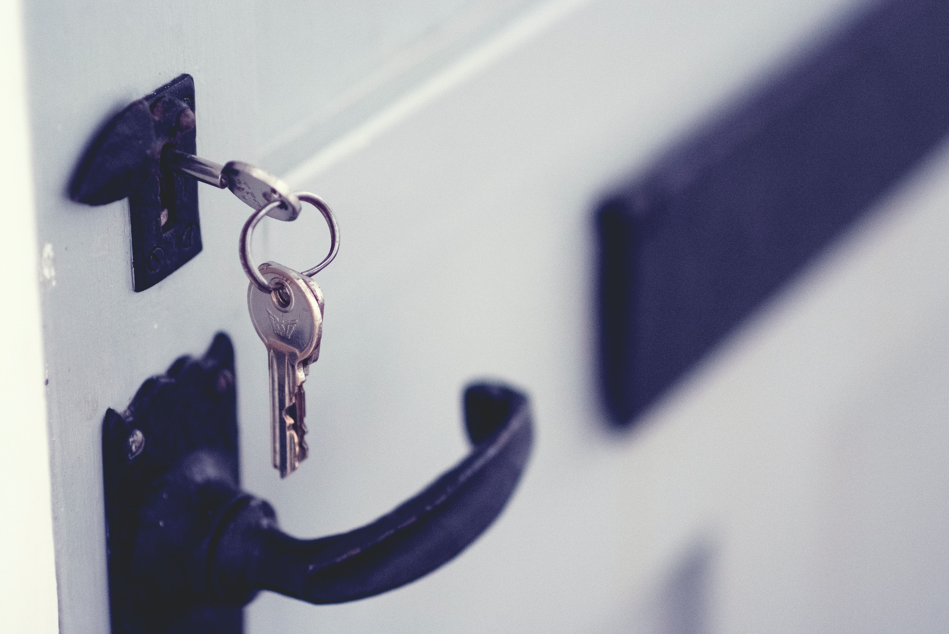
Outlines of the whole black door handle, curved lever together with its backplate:
M 300 540 L 240 490 L 228 337 L 178 359 L 103 422 L 113 632 L 233 634 L 260 589 L 342 603 L 434 571 L 501 513 L 533 441 L 527 398 L 513 389 L 470 386 L 464 407 L 467 458 L 362 528 Z

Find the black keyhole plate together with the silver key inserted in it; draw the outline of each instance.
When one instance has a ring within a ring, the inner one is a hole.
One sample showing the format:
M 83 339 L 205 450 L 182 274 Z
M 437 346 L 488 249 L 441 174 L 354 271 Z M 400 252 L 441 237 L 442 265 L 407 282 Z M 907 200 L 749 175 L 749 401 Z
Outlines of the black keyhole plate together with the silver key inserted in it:
M 136 291 L 151 288 L 201 252 L 197 182 L 233 191 L 251 208 L 295 220 L 302 208 L 286 183 L 249 163 L 219 165 L 195 156 L 195 81 L 180 75 L 133 101 L 102 126 L 69 186 L 72 200 L 106 205 L 129 199 Z

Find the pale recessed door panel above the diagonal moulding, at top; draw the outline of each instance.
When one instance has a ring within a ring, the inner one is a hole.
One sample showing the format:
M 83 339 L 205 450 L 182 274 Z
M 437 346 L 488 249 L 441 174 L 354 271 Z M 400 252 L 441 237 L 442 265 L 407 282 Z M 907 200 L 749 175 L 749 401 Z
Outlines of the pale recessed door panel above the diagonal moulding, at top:
M 262 166 L 287 172 L 539 0 L 255 3 L 251 113 Z M 557 3 L 553 3 L 557 4 Z M 292 53 L 282 45 L 291 41 Z

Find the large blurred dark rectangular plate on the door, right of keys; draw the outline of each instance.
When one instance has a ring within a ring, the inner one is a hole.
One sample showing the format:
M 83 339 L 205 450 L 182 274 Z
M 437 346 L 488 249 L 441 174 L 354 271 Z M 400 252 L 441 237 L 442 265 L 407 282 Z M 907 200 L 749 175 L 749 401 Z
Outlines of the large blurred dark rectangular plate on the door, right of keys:
M 630 423 L 949 130 L 949 3 L 875 4 L 598 209 L 602 379 Z

